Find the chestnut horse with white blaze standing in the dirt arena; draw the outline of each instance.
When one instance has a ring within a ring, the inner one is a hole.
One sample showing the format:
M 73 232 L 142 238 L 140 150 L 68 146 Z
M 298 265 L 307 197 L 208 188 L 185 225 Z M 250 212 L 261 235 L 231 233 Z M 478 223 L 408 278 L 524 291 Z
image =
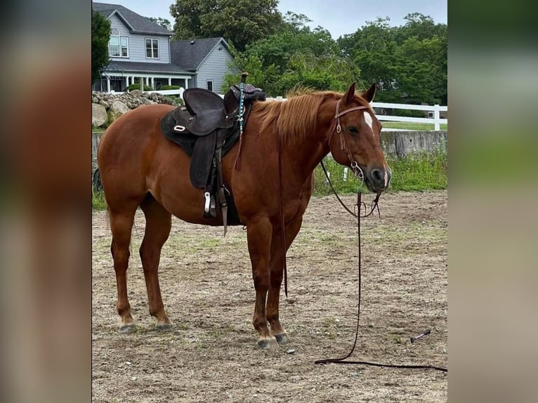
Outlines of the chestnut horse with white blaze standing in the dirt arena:
M 233 195 L 240 223 L 247 229 L 256 290 L 252 324 L 258 333 L 258 348 L 290 341 L 279 317 L 285 253 L 301 229 L 317 164 L 330 152 L 339 164 L 363 175 L 372 192 L 383 192 L 389 186 L 391 169 L 381 148 L 381 123 L 369 105 L 375 91 L 372 84 L 364 93 L 355 93 L 353 83 L 346 93 L 307 89 L 284 101 L 254 101 L 242 140 L 223 156 L 223 181 Z M 158 277 L 171 216 L 188 223 L 223 225 L 220 209 L 214 218 L 202 217 L 204 190 L 190 183 L 190 157 L 165 138 L 159 127 L 159 121 L 173 108 L 143 105 L 123 114 L 107 128 L 98 147 L 122 332 L 136 326 L 127 296 L 126 270 L 138 206 L 146 221 L 140 258 L 149 310 L 160 330 L 173 329 Z

